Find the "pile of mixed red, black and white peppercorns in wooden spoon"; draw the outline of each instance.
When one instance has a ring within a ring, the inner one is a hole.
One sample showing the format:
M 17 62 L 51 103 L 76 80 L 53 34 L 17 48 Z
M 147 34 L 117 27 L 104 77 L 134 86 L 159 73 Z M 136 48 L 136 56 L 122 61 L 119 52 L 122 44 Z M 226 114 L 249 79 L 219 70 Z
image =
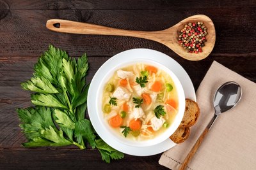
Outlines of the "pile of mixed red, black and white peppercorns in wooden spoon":
M 203 22 L 189 22 L 184 29 L 179 32 L 180 46 L 190 53 L 202 52 L 202 47 L 205 46 L 205 36 L 207 28 Z

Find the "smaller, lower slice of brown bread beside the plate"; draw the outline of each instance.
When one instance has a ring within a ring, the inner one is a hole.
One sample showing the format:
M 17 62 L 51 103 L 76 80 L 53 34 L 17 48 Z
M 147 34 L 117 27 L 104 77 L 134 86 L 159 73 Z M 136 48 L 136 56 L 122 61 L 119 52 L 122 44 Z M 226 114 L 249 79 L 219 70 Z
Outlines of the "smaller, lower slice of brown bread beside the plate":
M 170 139 L 172 139 L 172 141 L 174 143 L 182 143 L 184 142 L 186 139 L 188 139 L 188 136 L 190 134 L 190 129 L 189 127 L 179 127 L 173 134 L 172 136 L 170 136 Z

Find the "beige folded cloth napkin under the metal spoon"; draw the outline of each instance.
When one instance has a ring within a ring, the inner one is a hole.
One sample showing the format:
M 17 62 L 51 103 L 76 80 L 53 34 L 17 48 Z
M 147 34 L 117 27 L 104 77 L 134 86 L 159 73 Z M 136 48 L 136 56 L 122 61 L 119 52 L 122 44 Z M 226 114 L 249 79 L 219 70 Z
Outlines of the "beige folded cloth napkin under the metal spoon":
M 256 84 L 215 61 L 196 92 L 200 107 L 198 122 L 191 127 L 191 134 L 184 143 L 161 155 L 159 164 L 179 169 L 214 115 L 215 91 L 227 81 L 239 83 L 241 101 L 232 110 L 219 115 L 188 169 L 256 169 Z

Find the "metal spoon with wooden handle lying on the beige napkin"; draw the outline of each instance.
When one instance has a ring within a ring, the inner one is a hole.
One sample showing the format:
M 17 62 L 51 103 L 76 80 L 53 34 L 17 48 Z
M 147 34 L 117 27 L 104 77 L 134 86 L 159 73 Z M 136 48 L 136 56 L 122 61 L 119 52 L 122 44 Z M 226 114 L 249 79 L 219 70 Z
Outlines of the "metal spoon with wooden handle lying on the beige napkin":
M 234 108 L 234 106 L 236 106 L 236 104 L 240 101 L 241 96 L 242 89 L 240 85 L 234 81 L 228 81 L 227 83 L 224 83 L 223 85 L 221 85 L 221 87 L 219 87 L 214 95 L 214 117 L 212 118 L 211 122 L 209 122 L 204 132 L 202 132 L 201 136 L 197 139 L 195 145 L 188 153 L 186 159 L 180 167 L 180 170 L 185 169 L 189 161 L 192 159 L 193 155 L 195 155 L 196 150 L 199 148 L 207 132 L 211 129 L 212 124 L 214 123 L 218 115 L 220 115 L 220 113 L 230 110 L 231 108 Z

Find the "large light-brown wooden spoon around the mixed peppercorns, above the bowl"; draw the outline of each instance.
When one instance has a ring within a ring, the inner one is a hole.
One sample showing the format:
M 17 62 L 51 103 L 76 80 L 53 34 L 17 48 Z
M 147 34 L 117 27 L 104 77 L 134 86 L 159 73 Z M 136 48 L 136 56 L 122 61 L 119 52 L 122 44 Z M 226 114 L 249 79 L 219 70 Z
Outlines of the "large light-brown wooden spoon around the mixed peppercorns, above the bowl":
M 179 45 L 178 32 L 184 28 L 188 22 L 204 22 L 207 27 L 207 42 L 202 48 L 202 53 L 188 53 L 182 46 Z M 137 38 L 145 38 L 162 43 L 173 50 L 173 52 L 188 60 L 202 60 L 207 57 L 215 44 L 215 28 L 211 18 L 205 15 L 193 15 L 188 17 L 178 24 L 173 25 L 168 29 L 162 31 L 129 31 L 123 29 L 115 29 L 95 24 L 87 24 L 81 22 L 74 22 L 70 20 L 51 19 L 47 20 L 46 27 L 56 32 L 66 32 L 72 34 L 98 34 L 98 35 L 112 35 L 112 36 L 132 36 Z

